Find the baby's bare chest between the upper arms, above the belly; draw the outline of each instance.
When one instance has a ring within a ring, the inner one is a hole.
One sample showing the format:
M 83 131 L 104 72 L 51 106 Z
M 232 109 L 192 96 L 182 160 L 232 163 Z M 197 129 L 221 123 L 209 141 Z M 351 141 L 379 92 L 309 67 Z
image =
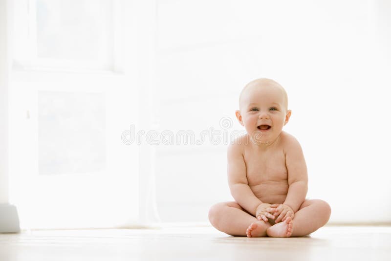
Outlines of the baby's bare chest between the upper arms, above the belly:
M 288 179 L 283 152 L 245 157 L 246 175 L 249 186 Z

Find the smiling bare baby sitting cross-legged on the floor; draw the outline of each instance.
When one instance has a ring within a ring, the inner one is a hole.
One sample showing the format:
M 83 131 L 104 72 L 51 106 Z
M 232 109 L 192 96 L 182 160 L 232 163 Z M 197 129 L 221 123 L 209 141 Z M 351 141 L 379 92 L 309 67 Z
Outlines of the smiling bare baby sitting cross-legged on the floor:
M 247 134 L 228 147 L 228 183 L 235 201 L 217 203 L 209 220 L 231 236 L 302 237 L 322 227 L 330 206 L 306 199 L 307 167 L 299 142 L 282 131 L 288 97 L 270 79 L 257 79 L 240 93 L 236 117 Z

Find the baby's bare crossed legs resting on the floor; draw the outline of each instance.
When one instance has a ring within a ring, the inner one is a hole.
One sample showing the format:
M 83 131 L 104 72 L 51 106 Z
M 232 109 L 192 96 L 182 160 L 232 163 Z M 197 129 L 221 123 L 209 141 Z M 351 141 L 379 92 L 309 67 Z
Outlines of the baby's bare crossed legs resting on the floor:
M 330 217 L 330 206 L 320 199 L 305 199 L 300 209 L 295 213 L 294 220 L 285 220 L 285 224 L 282 222 L 272 225 L 263 220 L 258 220 L 245 209 L 243 209 L 237 202 L 222 202 L 212 206 L 209 211 L 209 220 L 217 230 L 222 231 L 231 236 L 248 236 L 248 229 L 250 234 L 256 232 L 256 236 L 275 236 L 275 228 L 281 228 L 282 225 L 293 226 L 291 229 L 292 237 L 306 236 L 318 228 L 324 226 L 328 218 Z M 254 225 L 255 223 L 256 225 Z M 251 231 L 251 230 L 254 230 Z M 247 232 L 247 233 L 246 233 Z M 268 233 L 269 232 L 269 233 Z

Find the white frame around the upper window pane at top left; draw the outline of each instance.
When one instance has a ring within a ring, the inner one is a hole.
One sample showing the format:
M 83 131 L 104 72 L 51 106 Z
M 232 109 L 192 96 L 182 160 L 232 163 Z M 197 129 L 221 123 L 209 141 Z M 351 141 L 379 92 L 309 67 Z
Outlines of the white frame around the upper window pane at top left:
M 124 21 L 121 9 L 122 0 L 107 0 L 109 7 L 108 18 L 110 44 L 107 53 L 98 60 L 52 59 L 38 56 L 37 48 L 37 0 L 14 0 L 11 2 L 13 19 L 12 27 L 15 42 L 13 43 L 13 70 L 25 71 L 65 71 L 65 72 L 94 72 L 94 73 L 122 73 L 124 30 L 118 26 Z

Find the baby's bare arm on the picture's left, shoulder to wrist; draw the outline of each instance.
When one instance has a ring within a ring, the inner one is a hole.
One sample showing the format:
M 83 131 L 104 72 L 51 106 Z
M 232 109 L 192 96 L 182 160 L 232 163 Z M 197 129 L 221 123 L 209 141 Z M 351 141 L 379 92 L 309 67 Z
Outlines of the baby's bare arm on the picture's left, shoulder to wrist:
M 262 202 L 254 195 L 248 186 L 246 164 L 244 163 L 242 148 L 237 141 L 228 146 L 227 161 L 228 184 L 231 195 L 242 208 L 255 216 L 257 207 L 262 204 Z

